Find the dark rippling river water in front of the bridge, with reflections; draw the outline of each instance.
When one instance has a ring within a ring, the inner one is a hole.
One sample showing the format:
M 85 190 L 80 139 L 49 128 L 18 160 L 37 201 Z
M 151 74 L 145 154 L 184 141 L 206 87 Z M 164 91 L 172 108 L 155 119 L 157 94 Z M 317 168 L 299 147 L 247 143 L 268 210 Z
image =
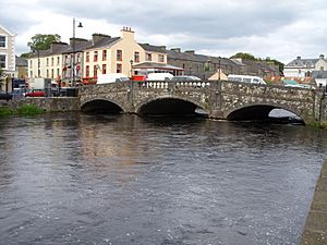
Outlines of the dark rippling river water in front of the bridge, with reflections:
M 291 125 L 1 120 L 1 243 L 298 244 L 326 146 Z

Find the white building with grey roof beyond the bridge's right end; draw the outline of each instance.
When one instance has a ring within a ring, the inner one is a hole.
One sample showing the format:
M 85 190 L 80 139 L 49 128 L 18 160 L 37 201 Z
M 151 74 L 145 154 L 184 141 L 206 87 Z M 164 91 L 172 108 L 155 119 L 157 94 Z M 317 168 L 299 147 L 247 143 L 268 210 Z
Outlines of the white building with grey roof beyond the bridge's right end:
M 290 63 L 284 65 L 283 75 L 286 77 L 311 77 L 313 72 L 327 71 L 327 60 L 324 54 L 320 54 L 318 59 L 302 59 L 298 57 Z

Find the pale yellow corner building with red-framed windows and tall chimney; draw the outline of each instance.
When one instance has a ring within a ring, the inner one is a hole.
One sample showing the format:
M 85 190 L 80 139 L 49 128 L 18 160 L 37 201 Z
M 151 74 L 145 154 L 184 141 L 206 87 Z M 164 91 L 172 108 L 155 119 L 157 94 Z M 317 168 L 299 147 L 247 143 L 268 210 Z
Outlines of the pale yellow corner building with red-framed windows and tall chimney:
M 135 33 L 129 27 L 121 29 L 121 37 L 98 36 L 94 45 L 84 50 L 83 82 L 96 83 L 99 73 L 122 73 L 131 77 L 135 74 L 133 66 L 144 62 L 167 64 L 164 49 L 143 46 L 135 41 Z

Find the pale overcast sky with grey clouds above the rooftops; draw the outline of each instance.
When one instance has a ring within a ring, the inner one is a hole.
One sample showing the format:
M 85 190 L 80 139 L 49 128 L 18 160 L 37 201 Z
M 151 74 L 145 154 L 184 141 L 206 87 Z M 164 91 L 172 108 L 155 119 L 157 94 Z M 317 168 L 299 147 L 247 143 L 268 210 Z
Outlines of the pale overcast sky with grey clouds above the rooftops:
M 249 52 L 288 63 L 327 54 L 326 0 L 1 0 L 0 25 L 16 34 L 16 53 L 35 34 L 120 36 L 138 42 L 230 57 Z

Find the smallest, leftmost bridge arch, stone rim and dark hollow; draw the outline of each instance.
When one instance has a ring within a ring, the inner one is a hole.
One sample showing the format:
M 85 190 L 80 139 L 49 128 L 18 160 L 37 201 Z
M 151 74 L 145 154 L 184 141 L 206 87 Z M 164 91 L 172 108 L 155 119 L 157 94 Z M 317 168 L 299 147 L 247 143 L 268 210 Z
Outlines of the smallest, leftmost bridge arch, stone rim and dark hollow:
M 93 112 L 93 111 L 112 111 L 112 112 L 125 112 L 125 108 L 118 101 L 108 99 L 105 97 L 94 97 L 85 100 L 81 100 L 81 111 Z

